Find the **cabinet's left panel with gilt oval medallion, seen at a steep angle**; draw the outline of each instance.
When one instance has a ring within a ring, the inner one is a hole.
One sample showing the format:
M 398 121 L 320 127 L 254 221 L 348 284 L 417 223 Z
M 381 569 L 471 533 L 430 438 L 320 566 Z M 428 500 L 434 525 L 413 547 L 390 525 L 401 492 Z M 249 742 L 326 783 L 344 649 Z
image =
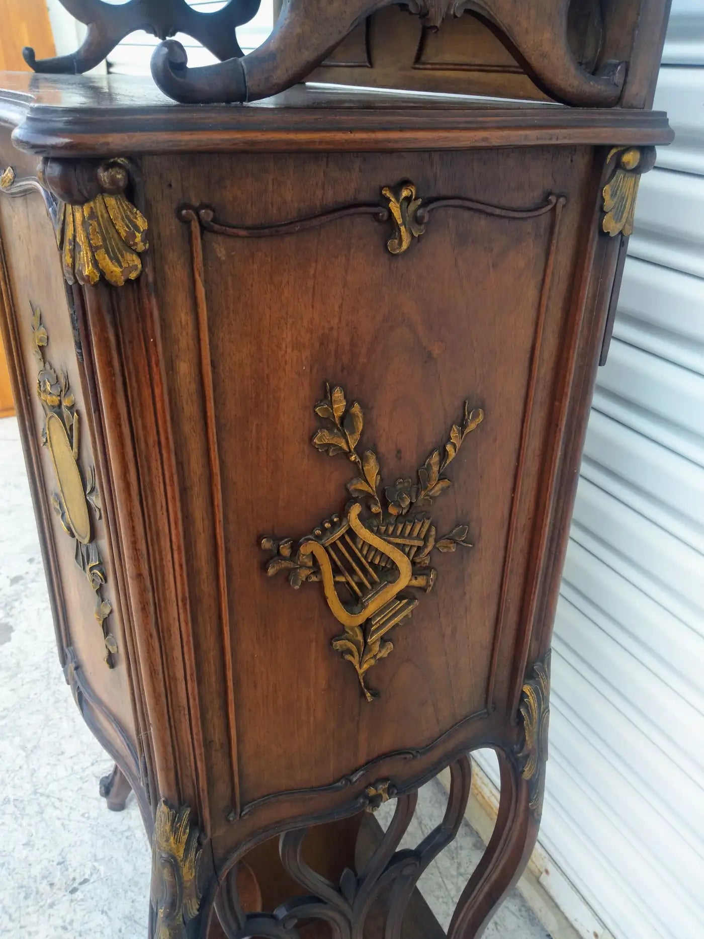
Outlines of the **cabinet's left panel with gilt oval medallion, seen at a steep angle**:
M 16 186 L 11 173 L 0 202 L 2 318 L 59 655 L 86 721 L 136 784 L 143 770 L 106 525 L 110 500 L 72 294 L 42 193 L 24 181 L 24 168 Z

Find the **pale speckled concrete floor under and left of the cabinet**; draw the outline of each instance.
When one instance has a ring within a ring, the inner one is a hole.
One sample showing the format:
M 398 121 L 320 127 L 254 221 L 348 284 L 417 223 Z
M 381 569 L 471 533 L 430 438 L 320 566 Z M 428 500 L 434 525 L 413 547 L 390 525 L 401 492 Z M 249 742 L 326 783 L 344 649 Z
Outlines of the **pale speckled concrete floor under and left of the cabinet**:
M 6 418 L 0 420 L 0 936 L 145 939 L 149 848 L 134 799 L 115 813 L 99 797 L 99 777 L 110 768 L 59 669 L 17 422 Z M 436 781 L 423 787 L 404 847 L 439 822 L 445 801 Z M 445 927 L 482 850 L 465 824 L 421 879 Z M 515 891 L 484 935 L 550 939 Z

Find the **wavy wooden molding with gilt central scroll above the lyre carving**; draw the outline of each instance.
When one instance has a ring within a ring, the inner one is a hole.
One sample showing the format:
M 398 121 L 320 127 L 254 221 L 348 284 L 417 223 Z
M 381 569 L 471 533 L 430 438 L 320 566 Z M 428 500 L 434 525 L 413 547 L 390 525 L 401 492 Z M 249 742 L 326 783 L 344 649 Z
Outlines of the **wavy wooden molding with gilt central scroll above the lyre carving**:
M 381 198 L 376 203 L 352 203 L 348 206 L 329 208 L 314 215 L 306 215 L 287 222 L 271 224 L 240 225 L 219 222 L 212 206 L 180 206 L 177 217 L 181 222 L 197 221 L 201 228 L 229 238 L 270 238 L 277 235 L 297 235 L 299 232 L 317 228 L 337 219 L 354 215 L 368 215 L 375 222 L 390 223 L 392 234 L 387 241 L 390 254 L 403 254 L 425 231 L 430 213 L 438 208 L 463 208 L 483 215 L 494 215 L 505 219 L 530 219 L 555 208 L 562 196 L 550 193 L 541 205 L 533 208 L 505 208 L 492 206 L 462 196 L 451 198 L 421 199 L 415 183 L 403 180 L 395 186 L 384 186 Z

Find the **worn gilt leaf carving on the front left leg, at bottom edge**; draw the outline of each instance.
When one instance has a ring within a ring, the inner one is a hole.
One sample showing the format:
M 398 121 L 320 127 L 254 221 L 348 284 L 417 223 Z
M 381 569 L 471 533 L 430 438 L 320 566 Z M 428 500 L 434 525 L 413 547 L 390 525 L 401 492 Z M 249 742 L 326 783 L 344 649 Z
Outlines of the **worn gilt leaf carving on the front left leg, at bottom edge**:
M 198 839 L 191 809 L 182 806 L 176 810 L 161 799 L 152 839 L 154 939 L 186 939 L 186 925 L 198 915 L 202 898 Z

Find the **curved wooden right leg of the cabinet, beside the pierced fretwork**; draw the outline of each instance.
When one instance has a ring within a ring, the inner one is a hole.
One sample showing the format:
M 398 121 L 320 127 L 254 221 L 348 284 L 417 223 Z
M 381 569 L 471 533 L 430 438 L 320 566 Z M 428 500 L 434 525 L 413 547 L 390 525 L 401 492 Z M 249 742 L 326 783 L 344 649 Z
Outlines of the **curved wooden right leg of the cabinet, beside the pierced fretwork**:
M 497 824 L 477 869 L 462 891 L 448 939 L 477 939 L 520 877 L 538 838 L 540 819 L 513 754 L 498 752 L 501 793 Z

